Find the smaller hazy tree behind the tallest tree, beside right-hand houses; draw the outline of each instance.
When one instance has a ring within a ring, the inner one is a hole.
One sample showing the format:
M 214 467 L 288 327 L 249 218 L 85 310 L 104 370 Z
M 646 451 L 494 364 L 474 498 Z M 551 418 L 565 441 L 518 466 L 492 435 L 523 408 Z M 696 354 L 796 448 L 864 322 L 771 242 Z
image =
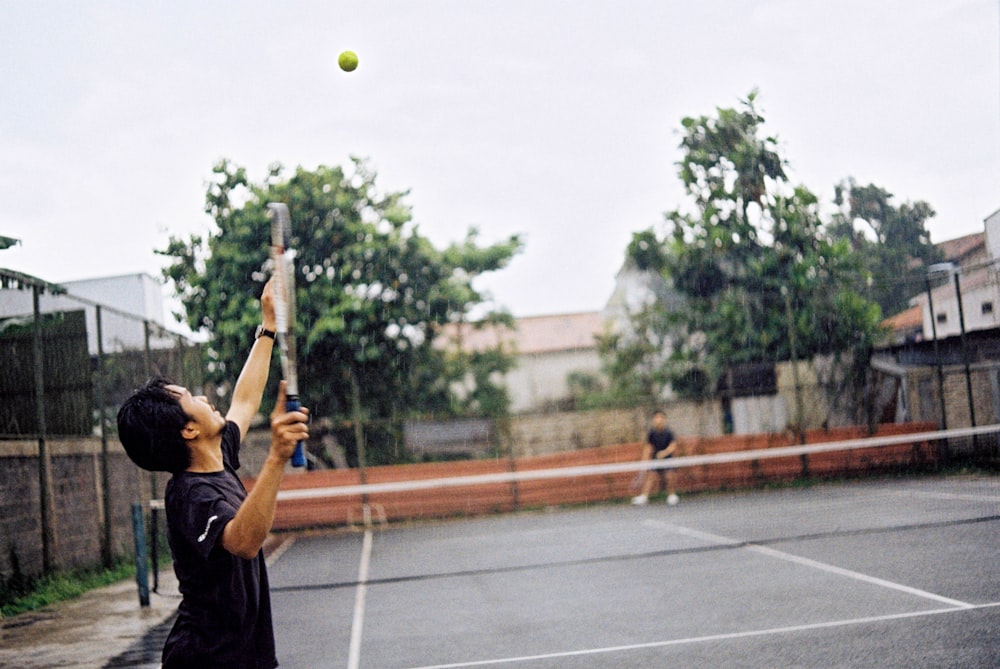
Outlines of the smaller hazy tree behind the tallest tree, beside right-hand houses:
M 927 266 L 940 262 L 926 223 L 934 209 L 924 201 L 896 206 L 892 193 L 875 184 L 859 185 L 853 178 L 837 184 L 834 203 L 839 211 L 831 235 L 850 244 L 871 273 L 864 294 L 885 316 L 909 307 L 924 288 Z

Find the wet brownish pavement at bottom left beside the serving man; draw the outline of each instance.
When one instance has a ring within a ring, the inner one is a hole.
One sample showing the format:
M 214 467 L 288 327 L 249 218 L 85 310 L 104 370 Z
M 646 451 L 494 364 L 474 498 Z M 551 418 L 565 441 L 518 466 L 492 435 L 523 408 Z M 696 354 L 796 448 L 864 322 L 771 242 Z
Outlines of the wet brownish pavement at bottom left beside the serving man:
M 160 666 L 163 639 L 180 603 L 177 581 L 160 571 L 150 605 L 139 605 L 135 580 L 122 581 L 0 620 L 0 668 Z

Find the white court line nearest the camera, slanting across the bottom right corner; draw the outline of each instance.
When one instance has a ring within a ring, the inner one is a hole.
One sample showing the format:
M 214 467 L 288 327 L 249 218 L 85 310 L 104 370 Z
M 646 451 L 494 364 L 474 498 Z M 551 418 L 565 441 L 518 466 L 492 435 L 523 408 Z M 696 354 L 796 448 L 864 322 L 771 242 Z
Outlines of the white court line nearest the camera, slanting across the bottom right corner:
M 987 609 L 1000 606 L 1000 602 L 990 604 L 977 604 L 971 609 Z M 706 636 L 688 637 L 686 639 L 670 639 L 668 641 L 651 641 L 647 643 L 628 644 L 623 646 L 606 646 L 604 648 L 587 648 L 584 650 L 570 650 L 559 653 L 541 653 L 538 655 L 521 655 L 519 657 L 505 657 L 493 660 L 473 660 L 471 662 L 453 662 L 450 664 L 429 664 L 411 669 L 457 669 L 458 667 L 485 667 L 491 664 L 513 664 L 515 662 L 534 662 L 537 660 L 550 660 L 564 657 L 582 657 L 585 655 L 599 655 L 601 653 L 620 653 L 629 650 L 643 650 L 647 648 L 665 648 L 667 646 L 681 646 L 692 643 L 707 643 L 711 641 L 729 641 L 732 639 L 746 639 L 749 637 L 767 636 L 771 634 L 788 634 L 791 632 L 808 632 L 810 630 L 830 629 L 833 627 L 846 627 L 849 625 L 866 625 L 870 623 L 887 622 L 892 620 L 905 620 L 907 618 L 920 618 L 924 616 L 937 616 L 945 613 L 955 613 L 956 611 L 966 611 L 969 609 L 947 608 L 932 609 L 928 611 L 911 611 L 909 613 L 892 613 L 884 616 L 868 616 L 865 618 L 848 618 L 846 620 L 830 620 L 823 623 L 810 623 L 807 625 L 791 625 L 788 627 L 771 627 L 769 629 L 749 630 L 746 632 L 727 632 L 725 634 L 709 634 Z

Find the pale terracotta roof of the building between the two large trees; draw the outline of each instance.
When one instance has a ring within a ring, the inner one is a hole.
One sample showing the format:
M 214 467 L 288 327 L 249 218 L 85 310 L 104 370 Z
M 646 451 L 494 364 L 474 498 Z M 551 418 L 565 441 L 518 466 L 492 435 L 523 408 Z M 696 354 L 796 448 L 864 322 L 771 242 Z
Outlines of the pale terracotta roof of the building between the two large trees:
M 457 323 L 446 326 L 442 335 L 455 340 L 461 333 L 466 351 L 485 351 L 500 344 L 522 355 L 579 351 L 597 346 L 595 337 L 604 333 L 604 319 L 596 311 L 553 316 L 518 318 L 514 329 L 503 326 L 475 326 Z

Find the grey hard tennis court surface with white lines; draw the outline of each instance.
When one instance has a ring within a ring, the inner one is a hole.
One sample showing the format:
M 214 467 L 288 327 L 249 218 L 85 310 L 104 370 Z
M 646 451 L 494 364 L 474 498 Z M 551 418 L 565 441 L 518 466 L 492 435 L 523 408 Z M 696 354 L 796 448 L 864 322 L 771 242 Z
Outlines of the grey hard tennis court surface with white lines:
M 1000 477 L 302 533 L 283 667 L 997 667 Z

